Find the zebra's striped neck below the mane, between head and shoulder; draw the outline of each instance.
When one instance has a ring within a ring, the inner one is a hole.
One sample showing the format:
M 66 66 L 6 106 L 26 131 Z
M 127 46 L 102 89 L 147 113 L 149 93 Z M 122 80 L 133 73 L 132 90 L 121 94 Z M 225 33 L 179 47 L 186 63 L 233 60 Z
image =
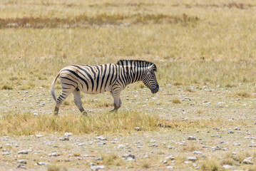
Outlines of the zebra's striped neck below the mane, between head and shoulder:
M 145 67 L 123 66 L 123 76 L 126 82 L 125 86 L 127 86 L 130 83 L 135 83 L 137 81 L 143 81 L 145 73 Z

